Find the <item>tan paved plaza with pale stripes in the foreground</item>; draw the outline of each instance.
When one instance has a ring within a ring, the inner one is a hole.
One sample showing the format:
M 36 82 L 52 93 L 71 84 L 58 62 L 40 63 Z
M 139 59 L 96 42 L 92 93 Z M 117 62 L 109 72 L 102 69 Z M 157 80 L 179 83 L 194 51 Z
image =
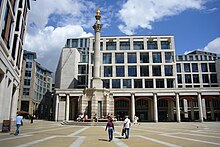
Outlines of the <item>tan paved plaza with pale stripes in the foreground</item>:
M 210 147 L 220 146 L 220 122 L 141 123 L 132 125 L 131 136 L 121 136 L 116 126 L 114 139 L 108 142 L 105 126 L 61 125 L 59 122 L 25 121 L 20 134 L 0 133 L 0 147 Z

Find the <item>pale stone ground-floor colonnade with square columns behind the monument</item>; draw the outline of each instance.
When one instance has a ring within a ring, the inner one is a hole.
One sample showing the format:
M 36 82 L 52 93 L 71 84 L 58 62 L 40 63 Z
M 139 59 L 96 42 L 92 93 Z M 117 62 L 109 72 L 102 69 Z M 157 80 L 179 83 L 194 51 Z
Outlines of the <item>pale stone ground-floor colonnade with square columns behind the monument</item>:
M 215 94 L 215 95 L 213 95 Z M 195 116 L 194 116 L 194 102 L 196 102 L 198 104 L 197 106 L 197 111 L 199 113 L 199 121 L 203 122 L 204 118 L 206 119 L 207 116 L 207 110 L 206 110 L 206 99 L 209 100 L 209 106 L 210 106 L 210 111 L 211 111 L 211 119 L 214 120 L 214 107 L 213 107 L 213 102 L 212 99 L 213 98 L 219 98 L 219 92 L 216 93 L 209 93 L 207 95 L 207 93 L 203 93 L 203 92 L 194 92 L 194 93 L 188 93 L 188 95 L 185 93 L 181 93 L 181 92 L 173 92 L 173 93 L 148 93 L 148 97 L 151 97 L 151 101 L 152 101 L 152 106 L 151 111 L 152 115 L 153 115 L 153 121 L 154 122 L 158 122 L 158 100 L 161 97 L 164 97 L 166 99 L 169 98 L 171 99 L 171 101 L 173 103 L 168 105 L 168 111 L 171 112 L 171 117 L 172 119 L 174 119 L 174 110 L 175 110 L 175 114 L 176 114 L 176 121 L 177 122 L 181 122 L 181 110 L 183 112 L 186 112 L 188 115 L 188 108 L 190 107 L 190 111 L 191 111 L 191 119 L 195 120 Z M 113 94 L 113 97 L 117 96 L 116 94 Z M 140 93 L 124 93 L 124 94 L 120 94 L 123 96 L 128 96 L 130 99 L 130 106 L 129 106 L 129 111 L 130 111 L 130 117 L 131 120 L 134 120 L 134 116 L 136 114 L 135 112 L 135 101 L 138 98 L 138 96 L 140 97 Z M 168 96 L 167 96 L 168 95 Z M 141 94 L 142 97 L 145 96 L 144 93 Z M 78 99 L 80 98 L 80 95 L 76 96 L 75 98 L 78 97 Z M 118 97 L 118 96 L 117 96 Z M 65 94 L 59 94 L 57 93 L 56 95 L 56 109 L 55 109 L 55 120 L 56 121 L 62 121 L 62 120 L 66 120 L 69 121 L 70 118 L 70 99 L 72 98 L 72 94 L 70 93 L 65 93 Z M 183 106 L 180 106 L 180 100 L 183 100 Z M 189 103 L 187 102 L 189 101 Z M 174 103 L 175 106 L 174 107 Z M 189 104 L 189 106 L 188 106 Z M 81 105 L 80 102 L 78 101 L 78 105 Z M 153 108 L 152 108 L 153 107 Z M 182 109 L 181 109 L 182 108 Z M 153 110 L 152 110 L 153 109 Z M 78 109 L 79 110 L 79 109 Z M 78 112 L 81 113 L 81 112 Z M 185 114 L 184 114 L 185 115 Z

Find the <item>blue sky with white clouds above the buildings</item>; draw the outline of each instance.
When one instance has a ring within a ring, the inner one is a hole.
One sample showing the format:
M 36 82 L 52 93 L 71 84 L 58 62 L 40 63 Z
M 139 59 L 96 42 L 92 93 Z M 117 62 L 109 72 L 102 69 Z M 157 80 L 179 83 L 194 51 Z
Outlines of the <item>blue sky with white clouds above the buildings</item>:
M 55 72 L 67 38 L 94 34 L 97 7 L 102 36 L 171 34 L 177 54 L 195 49 L 220 54 L 220 0 L 31 1 L 25 49 Z

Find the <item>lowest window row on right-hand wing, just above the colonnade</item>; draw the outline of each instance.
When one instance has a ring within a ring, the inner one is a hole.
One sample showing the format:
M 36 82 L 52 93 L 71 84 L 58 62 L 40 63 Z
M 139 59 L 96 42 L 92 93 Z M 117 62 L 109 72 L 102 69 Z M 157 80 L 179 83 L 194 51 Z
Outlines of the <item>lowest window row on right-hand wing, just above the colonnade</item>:
M 177 82 L 179 84 L 183 83 L 183 77 L 185 79 L 185 83 L 218 83 L 217 80 L 217 74 L 202 74 L 202 79 L 200 79 L 199 74 L 185 74 L 185 75 L 181 75 L 178 74 L 177 75 Z

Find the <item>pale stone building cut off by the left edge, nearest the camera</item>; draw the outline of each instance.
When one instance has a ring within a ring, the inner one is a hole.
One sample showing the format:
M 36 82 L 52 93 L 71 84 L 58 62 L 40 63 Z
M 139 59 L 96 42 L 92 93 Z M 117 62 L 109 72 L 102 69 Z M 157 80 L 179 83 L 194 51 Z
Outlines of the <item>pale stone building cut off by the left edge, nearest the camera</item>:
M 16 118 L 29 9 L 29 0 L 0 1 L 0 124 Z

